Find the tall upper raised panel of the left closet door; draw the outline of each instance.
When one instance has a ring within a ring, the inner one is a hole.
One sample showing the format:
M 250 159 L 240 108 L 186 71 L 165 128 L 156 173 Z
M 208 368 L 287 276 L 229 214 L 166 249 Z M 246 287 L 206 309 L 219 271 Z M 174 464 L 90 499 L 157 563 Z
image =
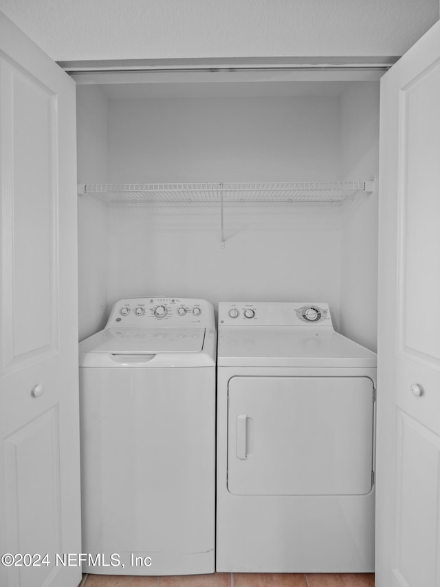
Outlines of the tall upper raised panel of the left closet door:
M 57 350 L 56 98 L 3 59 L 2 372 Z M 55 257 L 55 258 L 54 258 Z

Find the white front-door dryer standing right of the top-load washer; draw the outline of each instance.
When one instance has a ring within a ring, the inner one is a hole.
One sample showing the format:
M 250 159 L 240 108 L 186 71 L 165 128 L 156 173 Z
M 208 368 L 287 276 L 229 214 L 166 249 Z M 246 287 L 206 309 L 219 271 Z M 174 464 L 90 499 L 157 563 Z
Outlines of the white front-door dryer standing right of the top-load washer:
M 327 303 L 219 304 L 218 571 L 374 570 L 376 355 Z

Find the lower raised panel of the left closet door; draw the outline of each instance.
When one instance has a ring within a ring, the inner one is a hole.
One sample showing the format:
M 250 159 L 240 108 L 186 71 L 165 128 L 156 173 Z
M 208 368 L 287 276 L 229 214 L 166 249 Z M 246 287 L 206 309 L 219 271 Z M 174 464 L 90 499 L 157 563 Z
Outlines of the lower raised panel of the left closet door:
M 53 560 L 63 548 L 57 407 L 6 436 L 3 447 L 8 551 L 49 553 Z M 19 569 L 20 584 L 40 585 L 53 574 L 53 566 L 23 566 Z M 14 584 L 13 575 L 10 578 Z

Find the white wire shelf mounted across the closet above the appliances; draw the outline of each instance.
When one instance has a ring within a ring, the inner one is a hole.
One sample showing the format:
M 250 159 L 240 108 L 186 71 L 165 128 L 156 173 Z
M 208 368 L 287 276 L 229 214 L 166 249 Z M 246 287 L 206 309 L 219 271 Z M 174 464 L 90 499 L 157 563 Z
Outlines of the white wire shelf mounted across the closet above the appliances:
M 78 184 L 78 194 L 94 194 L 105 202 L 151 204 L 336 204 L 355 193 L 374 189 L 374 181 Z

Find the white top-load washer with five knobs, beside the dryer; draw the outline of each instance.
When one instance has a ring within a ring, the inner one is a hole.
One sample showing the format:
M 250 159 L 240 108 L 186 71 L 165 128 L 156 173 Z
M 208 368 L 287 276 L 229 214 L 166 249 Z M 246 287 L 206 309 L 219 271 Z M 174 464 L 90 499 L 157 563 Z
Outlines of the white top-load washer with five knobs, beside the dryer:
M 83 572 L 214 572 L 216 343 L 208 301 L 168 297 L 80 343 Z

